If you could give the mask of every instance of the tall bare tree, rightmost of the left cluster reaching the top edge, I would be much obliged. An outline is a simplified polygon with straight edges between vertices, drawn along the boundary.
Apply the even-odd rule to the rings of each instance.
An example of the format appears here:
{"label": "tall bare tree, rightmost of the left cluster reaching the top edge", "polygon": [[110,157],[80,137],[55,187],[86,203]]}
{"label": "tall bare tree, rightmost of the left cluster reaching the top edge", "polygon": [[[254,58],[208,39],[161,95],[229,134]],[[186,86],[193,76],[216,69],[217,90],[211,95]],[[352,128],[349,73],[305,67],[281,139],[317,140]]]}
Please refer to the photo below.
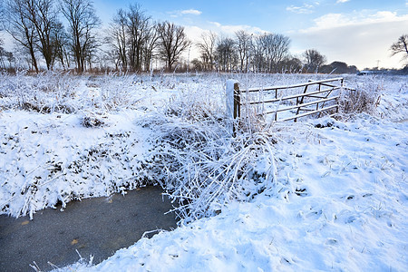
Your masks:
{"label": "tall bare tree, rightmost of the left cluster reaching the top edge", "polygon": [[83,73],[98,46],[95,28],[100,24],[90,0],[61,0],[61,11],[69,24],[70,41],[77,72]]}

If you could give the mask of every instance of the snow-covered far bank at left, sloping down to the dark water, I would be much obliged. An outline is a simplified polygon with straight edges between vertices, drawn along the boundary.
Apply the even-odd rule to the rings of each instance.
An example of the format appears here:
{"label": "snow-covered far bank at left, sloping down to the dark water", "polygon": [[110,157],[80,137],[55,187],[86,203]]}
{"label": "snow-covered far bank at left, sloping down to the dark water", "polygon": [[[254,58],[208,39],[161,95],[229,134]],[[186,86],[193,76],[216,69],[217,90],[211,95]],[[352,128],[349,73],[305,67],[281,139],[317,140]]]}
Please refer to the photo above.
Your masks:
{"label": "snow-covered far bank at left, sloping down to the dark water", "polygon": [[109,127],[85,128],[76,115],[3,112],[1,212],[33,218],[58,202],[65,207],[72,199],[146,185],[142,154],[149,131],[132,124],[132,114],[106,115]]}

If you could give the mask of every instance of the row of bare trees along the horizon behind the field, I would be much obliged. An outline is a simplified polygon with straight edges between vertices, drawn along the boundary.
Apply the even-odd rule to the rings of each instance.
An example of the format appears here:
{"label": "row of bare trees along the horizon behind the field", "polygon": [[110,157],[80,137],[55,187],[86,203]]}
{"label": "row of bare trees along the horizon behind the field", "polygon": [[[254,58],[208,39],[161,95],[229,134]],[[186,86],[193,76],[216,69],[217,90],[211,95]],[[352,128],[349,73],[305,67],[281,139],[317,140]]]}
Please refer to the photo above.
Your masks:
{"label": "row of bare trees along the horizon behind the field", "polygon": [[[2,29],[15,39],[14,52],[7,52],[0,37],[2,69],[25,67],[38,73],[44,63],[47,70],[76,73],[153,69],[357,73],[355,66],[346,63],[326,64],[325,56],[316,49],[299,57],[292,55],[290,38],[283,34],[240,30],[227,37],[205,32],[192,43],[183,26],[156,22],[138,4],[119,9],[103,32],[91,0],[5,0],[0,3],[0,13]],[[199,58],[189,59],[192,49],[199,52]]]}

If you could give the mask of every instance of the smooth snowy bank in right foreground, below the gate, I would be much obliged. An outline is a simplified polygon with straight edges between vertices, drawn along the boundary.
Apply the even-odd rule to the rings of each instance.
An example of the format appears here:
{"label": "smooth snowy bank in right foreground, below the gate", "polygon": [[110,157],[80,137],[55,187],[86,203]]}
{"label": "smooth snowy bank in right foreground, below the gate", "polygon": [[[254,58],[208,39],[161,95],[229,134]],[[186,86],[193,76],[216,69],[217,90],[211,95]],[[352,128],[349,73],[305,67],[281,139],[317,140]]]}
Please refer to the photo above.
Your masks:
{"label": "smooth snowy bank in right foreground, below the gate", "polygon": [[253,201],[62,271],[404,271],[407,129],[366,115],[278,126],[277,182]]}

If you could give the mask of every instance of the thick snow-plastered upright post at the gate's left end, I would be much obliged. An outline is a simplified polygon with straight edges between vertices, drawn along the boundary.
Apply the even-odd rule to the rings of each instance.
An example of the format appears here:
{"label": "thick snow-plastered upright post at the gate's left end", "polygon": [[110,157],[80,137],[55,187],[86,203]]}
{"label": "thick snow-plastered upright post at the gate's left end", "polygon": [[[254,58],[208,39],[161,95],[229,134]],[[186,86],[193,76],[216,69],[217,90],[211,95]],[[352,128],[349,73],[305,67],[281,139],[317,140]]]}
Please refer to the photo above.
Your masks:
{"label": "thick snow-plastered upright post at the gate's left end", "polygon": [[235,137],[237,119],[241,117],[241,98],[239,93],[239,83],[237,81],[227,81],[226,96],[227,117],[228,119],[232,119],[232,134]]}

